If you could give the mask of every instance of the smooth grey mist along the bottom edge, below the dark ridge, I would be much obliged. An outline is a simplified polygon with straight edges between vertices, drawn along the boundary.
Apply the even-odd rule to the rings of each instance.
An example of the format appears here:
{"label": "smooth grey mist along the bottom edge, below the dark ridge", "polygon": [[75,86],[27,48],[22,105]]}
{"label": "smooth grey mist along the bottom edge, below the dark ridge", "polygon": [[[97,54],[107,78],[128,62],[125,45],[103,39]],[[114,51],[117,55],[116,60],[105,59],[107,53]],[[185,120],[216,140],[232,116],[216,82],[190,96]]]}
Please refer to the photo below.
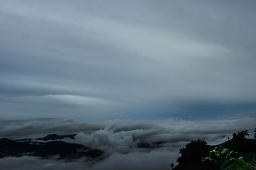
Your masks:
{"label": "smooth grey mist along the bottom edge, below the dark ridge", "polygon": [[[129,153],[127,155],[114,154],[108,159],[102,160],[95,165],[90,165],[83,160],[77,162],[60,162],[56,160],[42,160],[36,157],[20,158],[3,158],[0,159],[0,169],[63,169],[63,170],[80,170],[80,169],[170,169],[169,160],[176,157],[172,152],[150,152],[150,153]],[[129,161],[128,161],[129,160]],[[152,162],[154,160],[154,162]]]}

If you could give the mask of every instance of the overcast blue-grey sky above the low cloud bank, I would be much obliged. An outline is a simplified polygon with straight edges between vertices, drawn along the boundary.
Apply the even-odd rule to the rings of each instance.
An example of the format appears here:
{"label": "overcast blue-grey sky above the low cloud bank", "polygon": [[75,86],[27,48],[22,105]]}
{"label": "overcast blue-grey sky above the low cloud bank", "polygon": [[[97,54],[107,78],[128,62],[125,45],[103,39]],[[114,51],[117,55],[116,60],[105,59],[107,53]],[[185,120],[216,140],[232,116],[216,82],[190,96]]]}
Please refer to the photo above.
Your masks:
{"label": "overcast blue-grey sky above the low cloud bank", "polygon": [[0,118],[256,111],[256,1],[0,2]]}

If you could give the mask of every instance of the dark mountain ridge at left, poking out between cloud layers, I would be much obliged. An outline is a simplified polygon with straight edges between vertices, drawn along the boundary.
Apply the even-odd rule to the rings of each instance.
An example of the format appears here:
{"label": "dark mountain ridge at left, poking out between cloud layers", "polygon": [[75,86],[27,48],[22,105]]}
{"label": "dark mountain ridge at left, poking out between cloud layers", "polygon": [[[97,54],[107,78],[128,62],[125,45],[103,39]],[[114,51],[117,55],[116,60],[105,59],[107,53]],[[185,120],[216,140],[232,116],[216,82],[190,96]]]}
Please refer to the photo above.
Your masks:
{"label": "dark mountain ridge at left, poking out between cloud layers", "polygon": [[78,159],[87,157],[90,160],[102,156],[104,152],[97,149],[88,148],[75,143],[63,141],[41,142],[19,142],[8,138],[0,139],[0,158],[1,157],[21,157],[24,155],[42,157],[47,159],[54,155],[60,155],[59,159]]}

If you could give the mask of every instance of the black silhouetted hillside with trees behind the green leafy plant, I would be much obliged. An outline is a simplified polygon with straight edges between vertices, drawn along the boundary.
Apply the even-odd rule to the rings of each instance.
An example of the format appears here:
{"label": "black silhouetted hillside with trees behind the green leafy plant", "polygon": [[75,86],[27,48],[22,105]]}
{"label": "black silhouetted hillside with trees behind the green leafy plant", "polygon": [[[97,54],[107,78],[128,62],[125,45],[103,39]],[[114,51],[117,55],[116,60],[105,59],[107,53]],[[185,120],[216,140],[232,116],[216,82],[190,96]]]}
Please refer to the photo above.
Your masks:
{"label": "black silhouetted hillside with trees behind the green leafy plant", "polygon": [[229,148],[241,155],[248,155],[248,153],[256,153],[256,140],[246,139],[244,136],[234,136],[234,138],[221,143],[220,145],[210,146],[204,140],[198,139],[191,141],[185,148],[180,149],[181,156],[177,159],[179,164],[173,170],[186,170],[186,169],[220,169],[216,164],[209,162],[202,162],[202,157],[207,157],[209,152],[216,146],[222,148]]}

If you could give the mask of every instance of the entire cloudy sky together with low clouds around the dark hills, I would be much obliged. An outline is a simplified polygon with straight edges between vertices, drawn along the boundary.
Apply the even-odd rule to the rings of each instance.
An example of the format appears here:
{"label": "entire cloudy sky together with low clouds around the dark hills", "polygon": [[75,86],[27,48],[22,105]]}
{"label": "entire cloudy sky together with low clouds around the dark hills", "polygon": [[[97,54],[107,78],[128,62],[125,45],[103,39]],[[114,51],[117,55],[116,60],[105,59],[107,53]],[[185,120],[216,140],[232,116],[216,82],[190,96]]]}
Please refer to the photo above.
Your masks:
{"label": "entire cloudy sky together with low clouds around the dark hills", "polygon": [[1,167],[167,170],[192,139],[251,137],[255,6],[1,0],[0,138],[77,134],[64,141],[106,153],[97,164],[24,156]]}

